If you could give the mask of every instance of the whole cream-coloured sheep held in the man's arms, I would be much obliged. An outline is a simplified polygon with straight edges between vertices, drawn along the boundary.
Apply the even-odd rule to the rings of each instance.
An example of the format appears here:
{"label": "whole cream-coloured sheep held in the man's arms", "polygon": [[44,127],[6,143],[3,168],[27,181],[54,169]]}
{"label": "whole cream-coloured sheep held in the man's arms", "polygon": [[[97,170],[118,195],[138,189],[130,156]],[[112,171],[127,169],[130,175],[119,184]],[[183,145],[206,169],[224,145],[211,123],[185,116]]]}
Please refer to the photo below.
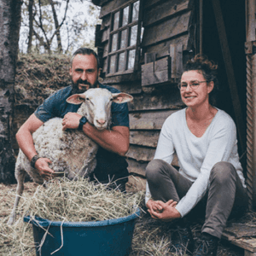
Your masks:
{"label": "whole cream-coloured sheep held in the man's arms", "polygon": [[[132,96],[125,93],[111,93],[107,89],[90,89],[83,94],[75,94],[67,98],[67,102],[81,104],[77,113],[85,116],[88,122],[98,130],[108,129],[111,124],[112,102],[130,102]],[[56,173],[64,172],[66,177],[89,177],[96,167],[96,152],[98,145],[83,131],[62,131],[62,119],[49,119],[32,134],[33,143],[41,157],[49,158],[52,164],[49,167]],[[17,180],[15,205],[9,217],[9,225],[15,223],[15,211],[18,207],[20,196],[24,190],[26,173],[35,183],[42,184],[44,179],[38,171],[30,165],[26,155],[20,150],[16,164],[15,177]]]}

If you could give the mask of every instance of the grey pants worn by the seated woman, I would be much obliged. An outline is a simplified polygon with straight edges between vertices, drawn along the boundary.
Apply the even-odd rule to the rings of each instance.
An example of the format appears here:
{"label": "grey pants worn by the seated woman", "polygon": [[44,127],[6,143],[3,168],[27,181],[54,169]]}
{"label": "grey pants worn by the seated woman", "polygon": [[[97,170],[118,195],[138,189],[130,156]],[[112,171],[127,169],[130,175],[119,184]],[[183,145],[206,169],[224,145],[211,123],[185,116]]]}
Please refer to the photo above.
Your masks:
{"label": "grey pants worn by the seated woman", "polygon": [[[152,198],[160,201],[179,201],[193,184],[164,160],[152,160],[146,168]],[[203,212],[205,222],[201,232],[220,238],[230,215],[241,215],[247,210],[247,191],[241,184],[236,169],[228,162],[212,167],[209,188],[197,206],[189,212],[192,220]]]}

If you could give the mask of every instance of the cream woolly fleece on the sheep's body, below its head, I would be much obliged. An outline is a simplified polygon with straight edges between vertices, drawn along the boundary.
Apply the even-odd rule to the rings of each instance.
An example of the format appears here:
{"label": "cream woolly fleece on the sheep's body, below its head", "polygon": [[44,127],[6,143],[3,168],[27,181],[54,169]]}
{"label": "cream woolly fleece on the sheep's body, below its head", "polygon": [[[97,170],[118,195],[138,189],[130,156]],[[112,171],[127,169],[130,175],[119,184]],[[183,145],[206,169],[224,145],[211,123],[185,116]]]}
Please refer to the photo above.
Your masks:
{"label": "cream woolly fleece on the sheep's body, below its head", "polygon": [[[49,119],[33,133],[38,155],[51,160],[49,167],[55,172],[65,172],[69,179],[77,175],[88,177],[96,167],[98,145],[86,137],[83,131],[62,131],[61,122],[60,118]],[[44,183],[44,179],[32,168],[30,161],[20,150],[15,172],[22,172],[24,169],[34,182]]]}

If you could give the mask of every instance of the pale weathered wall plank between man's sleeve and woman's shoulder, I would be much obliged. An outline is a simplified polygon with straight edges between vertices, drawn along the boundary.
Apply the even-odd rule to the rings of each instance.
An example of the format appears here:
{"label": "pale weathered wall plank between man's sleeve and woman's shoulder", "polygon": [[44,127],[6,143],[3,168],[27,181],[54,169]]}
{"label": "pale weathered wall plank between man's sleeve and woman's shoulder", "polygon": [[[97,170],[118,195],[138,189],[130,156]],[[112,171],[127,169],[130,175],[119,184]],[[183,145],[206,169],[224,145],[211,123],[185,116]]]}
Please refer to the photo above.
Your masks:
{"label": "pale weathered wall plank between man's sleeve and woman's shoulder", "polygon": [[131,130],[160,130],[166,118],[177,110],[129,113]]}

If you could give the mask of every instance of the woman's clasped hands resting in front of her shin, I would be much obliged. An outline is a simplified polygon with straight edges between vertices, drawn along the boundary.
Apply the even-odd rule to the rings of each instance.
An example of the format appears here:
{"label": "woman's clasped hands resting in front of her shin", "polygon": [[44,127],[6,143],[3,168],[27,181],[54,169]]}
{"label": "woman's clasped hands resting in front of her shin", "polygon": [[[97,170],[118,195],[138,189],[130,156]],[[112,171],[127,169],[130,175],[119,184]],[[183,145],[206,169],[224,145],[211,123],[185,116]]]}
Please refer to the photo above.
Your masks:
{"label": "woman's clasped hands resting in front of her shin", "polygon": [[147,203],[148,212],[154,219],[162,221],[172,221],[175,218],[181,218],[181,215],[176,210],[177,201],[169,200],[166,203],[163,201],[149,200]]}

